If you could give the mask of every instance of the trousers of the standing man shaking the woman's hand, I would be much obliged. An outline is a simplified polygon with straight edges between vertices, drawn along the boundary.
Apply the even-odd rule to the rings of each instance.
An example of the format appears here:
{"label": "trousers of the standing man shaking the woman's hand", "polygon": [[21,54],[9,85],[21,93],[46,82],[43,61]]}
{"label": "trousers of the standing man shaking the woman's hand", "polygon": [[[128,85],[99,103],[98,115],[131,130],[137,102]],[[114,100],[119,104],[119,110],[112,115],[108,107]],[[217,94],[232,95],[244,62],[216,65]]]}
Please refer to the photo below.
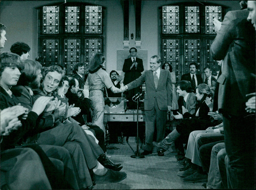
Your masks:
{"label": "trousers of the standing man shaking the woman's hand", "polygon": [[[167,119],[167,110],[159,110],[157,101],[155,99],[154,107],[152,110],[145,110],[145,125],[146,125],[146,150],[152,151],[153,137],[156,124],[156,142],[164,139],[165,127]],[[158,150],[157,150],[158,151]]]}

